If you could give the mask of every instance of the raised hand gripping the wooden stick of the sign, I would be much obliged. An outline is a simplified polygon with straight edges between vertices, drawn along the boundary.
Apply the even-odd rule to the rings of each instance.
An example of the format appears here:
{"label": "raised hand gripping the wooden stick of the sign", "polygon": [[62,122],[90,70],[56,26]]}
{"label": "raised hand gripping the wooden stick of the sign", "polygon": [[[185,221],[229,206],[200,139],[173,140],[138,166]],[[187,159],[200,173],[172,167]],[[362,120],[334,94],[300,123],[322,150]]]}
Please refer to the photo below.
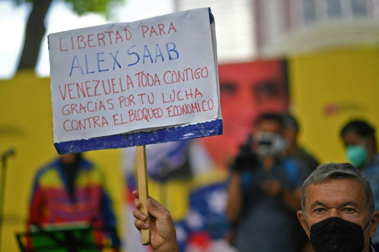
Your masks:
{"label": "raised hand gripping the wooden stick of the sign", "polygon": [[149,224],[147,224],[147,216],[141,211],[141,202],[139,200],[138,190],[133,191],[133,195],[137,198],[133,204],[135,210],[133,216],[136,219],[134,226],[138,229],[150,228],[150,245],[154,252],[160,251],[178,251],[179,248],[176,242],[176,230],[173,218],[170,212],[159,204],[158,201],[149,197],[146,201],[147,211],[150,214]]}

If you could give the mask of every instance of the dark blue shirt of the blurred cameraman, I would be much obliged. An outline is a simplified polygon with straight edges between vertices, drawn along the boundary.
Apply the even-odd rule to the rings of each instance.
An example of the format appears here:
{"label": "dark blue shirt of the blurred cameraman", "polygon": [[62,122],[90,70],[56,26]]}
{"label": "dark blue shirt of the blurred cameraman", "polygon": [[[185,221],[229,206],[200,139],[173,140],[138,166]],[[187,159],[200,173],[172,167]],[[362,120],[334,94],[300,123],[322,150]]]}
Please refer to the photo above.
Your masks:
{"label": "dark blue shirt of the blurred cameraman", "polygon": [[[262,163],[240,172],[244,207],[236,224],[236,246],[239,252],[294,252],[299,221],[296,214],[287,209],[279,197],[272,197],[262,189],[267,178],[279,181],[290,191],[301,188],[308,171],[290,159],[277,159],[266,171]],[[288,165],[295,166],[288,169]]]}

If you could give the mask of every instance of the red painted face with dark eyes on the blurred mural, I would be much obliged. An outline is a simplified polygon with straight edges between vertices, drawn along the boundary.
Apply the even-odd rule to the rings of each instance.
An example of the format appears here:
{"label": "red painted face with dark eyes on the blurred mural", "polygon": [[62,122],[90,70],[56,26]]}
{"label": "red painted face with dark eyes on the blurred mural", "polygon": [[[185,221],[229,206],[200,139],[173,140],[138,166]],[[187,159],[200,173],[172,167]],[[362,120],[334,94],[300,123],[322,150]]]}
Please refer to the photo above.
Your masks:
{"label": "red painted face with dark eyes on the blurred mural", "polygon": [[223,135],[202,140],[216,164],[225,166],[254,131],[257,117],[287,110],[288,92],[283,61],[226,64],[218,70]]}

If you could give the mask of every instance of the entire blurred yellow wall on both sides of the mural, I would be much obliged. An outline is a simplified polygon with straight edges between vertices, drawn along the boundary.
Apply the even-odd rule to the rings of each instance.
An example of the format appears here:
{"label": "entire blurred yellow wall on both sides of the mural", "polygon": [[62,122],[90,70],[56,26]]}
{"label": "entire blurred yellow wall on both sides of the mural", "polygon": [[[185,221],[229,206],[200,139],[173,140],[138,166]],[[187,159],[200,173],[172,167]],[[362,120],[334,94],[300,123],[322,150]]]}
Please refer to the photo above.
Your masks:
{"label": "entire blurred yellow wall on both sides of the mural", "polygon": [[[288,62],[291,109],[302,127],[300,142],[322,163],[346,161],[339,131],[347,120],[365,118],[379,130],[379,48],[334,49]],[[0,153],[10,147],[16,155],[8,162],[1,251],[17,251],[14,234],[24,230],[35,171],[57,155],[49,79],[36,78],[32,71],[0,81]],[[105,168],[122,224],[120,150],[86,154]]]}

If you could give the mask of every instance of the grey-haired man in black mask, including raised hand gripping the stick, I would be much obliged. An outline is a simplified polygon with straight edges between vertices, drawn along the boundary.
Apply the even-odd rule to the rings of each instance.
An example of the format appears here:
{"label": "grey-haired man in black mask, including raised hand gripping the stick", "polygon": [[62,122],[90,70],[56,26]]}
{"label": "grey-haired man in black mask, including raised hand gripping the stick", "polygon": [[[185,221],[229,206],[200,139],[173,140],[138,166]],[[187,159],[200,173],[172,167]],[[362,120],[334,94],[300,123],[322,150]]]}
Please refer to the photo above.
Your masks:
{"label": "grey-haired man in black mask, including raised hand gripping the stick", "polygon": [[[138,197],[138,192],[133,192]],[[298,218],[316,252],[375,252],[369,245],[379,212],[367,179],[351,164],[320,165],[302,187],[302,211]],[[149,228],[147,217],[134,200],[137,229]],[[167,209],[149,199],[151,247],[154,252],[179,251],[174,223]],[[254,251],[254,248],[251,248]]]}

